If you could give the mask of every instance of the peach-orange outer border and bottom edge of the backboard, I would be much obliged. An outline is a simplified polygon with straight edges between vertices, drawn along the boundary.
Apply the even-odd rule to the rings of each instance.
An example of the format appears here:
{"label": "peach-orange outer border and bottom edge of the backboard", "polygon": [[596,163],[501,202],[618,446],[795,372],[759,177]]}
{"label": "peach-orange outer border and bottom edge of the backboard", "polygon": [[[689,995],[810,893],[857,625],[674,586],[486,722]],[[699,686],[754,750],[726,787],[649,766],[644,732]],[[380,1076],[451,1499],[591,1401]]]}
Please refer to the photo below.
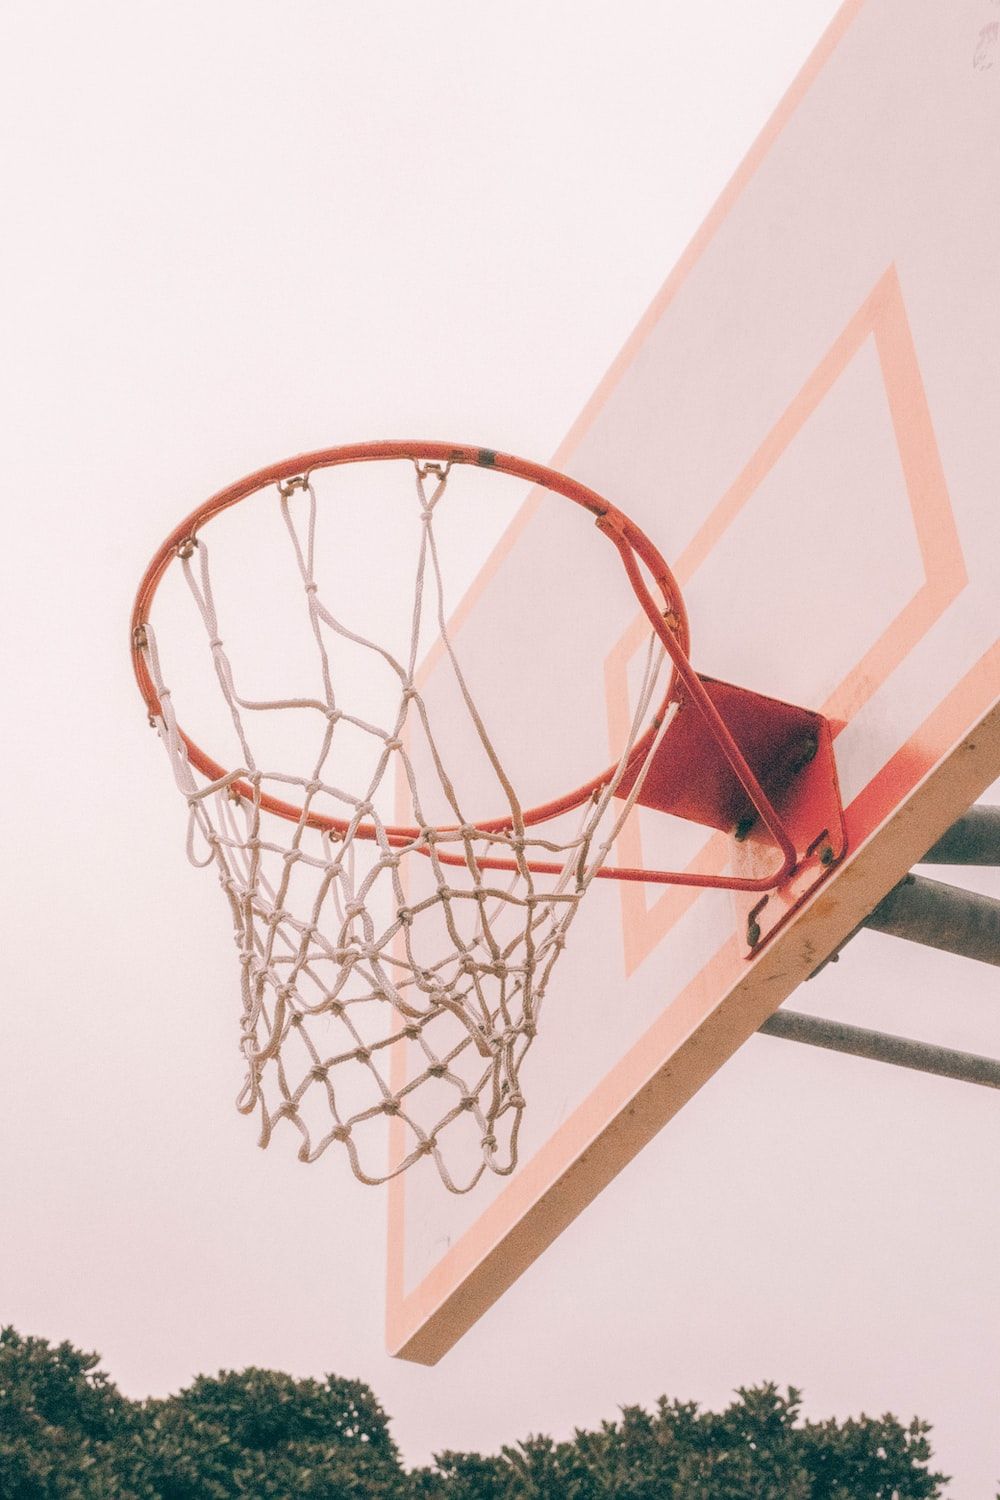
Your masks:
{"label": "peach-orange outer border and bottom edge of the backboard", "polygon": [[[867,0],[846,0],[747,158],[717,200],[660,294],[609,369],[553,458],[567,466],[582,436],[631,364],[649,328],[697,262]],[[885,362],[885,351],[880,350]],[[889,348],[892,360],[892,348]],[[885,363],[883,363],[885,369]],[[904,376],[906,378],[906,376]],[[919,376],[918,376],[919,380]],[[906,435],[898,441],[906,446]],[[910,486],[907,474],[907,484]],[[915,489],[910,486],[910,495]],[[529,496],[466,596],[468,615],[538,506]],[[933,568],[925,570],[928,580]],[[688,564],[691,566],[691,564]],[[927,588],[928,585],[925,585]],[[931,588],[940,588],[940,582]],[[928,609],[924,590],[907,606]],[[904,612],[906,614],[906,612]],[[897,622],[898,628],[898,622]],[[912,621],[907,628],[912,628]],[[927,628],[927,626],[924,627]],[[948,758],[946,764],[942,764]],[[480,1220],[409,1293],[405,1286],[405,1178],[390,1182],[387,1344],[391,1353],[435,1364],[646,1144],[673,1113],[771,1016],[795,986],[871,910],[970,802],[1000,765],[1000,642],[996,642],[847,808],[852,854],[835,886],[808,904],[753,962],[736,940],[664,1010],[547,1144],[525,1164]],[[874,848],[864,830],[900,807],[889,837]],[[721,1002],[724,974],[733,982]],[[714,1008],[712,1008],[714,1005]]]}

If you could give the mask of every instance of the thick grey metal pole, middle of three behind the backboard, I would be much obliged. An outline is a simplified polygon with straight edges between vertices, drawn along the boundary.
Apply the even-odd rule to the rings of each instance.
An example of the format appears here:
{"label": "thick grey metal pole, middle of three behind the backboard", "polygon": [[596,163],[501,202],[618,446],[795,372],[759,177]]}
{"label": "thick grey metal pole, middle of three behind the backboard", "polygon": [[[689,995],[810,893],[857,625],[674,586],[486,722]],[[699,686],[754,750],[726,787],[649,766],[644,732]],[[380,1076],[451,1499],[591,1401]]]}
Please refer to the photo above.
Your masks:
{"label": "thick grey metal pole, middle of three behind the backboard", "polygon": [[907,874],[862,927],[1000,964],[1000,902],[922,874]]}

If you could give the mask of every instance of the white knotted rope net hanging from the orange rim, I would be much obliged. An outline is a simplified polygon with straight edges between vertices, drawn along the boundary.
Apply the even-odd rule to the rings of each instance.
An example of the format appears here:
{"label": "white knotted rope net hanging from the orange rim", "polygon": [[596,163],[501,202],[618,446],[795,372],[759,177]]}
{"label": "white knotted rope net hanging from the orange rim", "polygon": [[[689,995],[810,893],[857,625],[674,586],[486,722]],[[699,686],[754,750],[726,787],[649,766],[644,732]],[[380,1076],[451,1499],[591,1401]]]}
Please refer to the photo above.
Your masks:
{"label": "white knotted rope net hanging from the orange rim", "polygon": [[[561,819],[547,837],[526,826],[448,634],[433,525],[448,468],[415,471],[420,542],[409,645],[399,656],[352,630],[321,597],[310,477],[277,486],[315,644],[310,698],[261,700],[240,690],[205,540],[178,549],[241,756],[225,777],[207,780],[190,762],[151,626],[142,650],[160,702],[156,726],[189,807],[189,858],[214,866],[232,916],[246,1062],[238,1108],[259,1116],[262,1146],[288,1122],[303,1161],[336,1142],[354,1173],[378,1184],[430,1158],[445,1186],[465,1192],[486,1170],[507,1174],[517,1164],[525,1056],[568,927],[642,786],[640,774],[630,795],[616,798],[664,690],[664,658],[651,636],[628,741],[573,826]],[[502,800],[502,831],[469,822],[445,770],[444,741],[454,724],[432,726],[418,687],[424,615]],[[394,706],[384,723],[352,712],[342,698],[334,648],[345,642],[391,674]],[[252,748],[255,722],[286,711],[307,714],[315,726],[316,747],[301,774],[259,764]],[[360,792],[340,784],[337,746],[348,734],[372,748]],[[406,836],[379,813],[385,783],[406,790]],[[292,801],[298,816],[274,816],[268,796]],[[447,819],[432,822],[432,804],[447,806]],[[345,826],[318,826],[330,819]],[[495,860],[508,868],[492,868]],[[535,873],[531,864],[540,861],[556,873]]]}

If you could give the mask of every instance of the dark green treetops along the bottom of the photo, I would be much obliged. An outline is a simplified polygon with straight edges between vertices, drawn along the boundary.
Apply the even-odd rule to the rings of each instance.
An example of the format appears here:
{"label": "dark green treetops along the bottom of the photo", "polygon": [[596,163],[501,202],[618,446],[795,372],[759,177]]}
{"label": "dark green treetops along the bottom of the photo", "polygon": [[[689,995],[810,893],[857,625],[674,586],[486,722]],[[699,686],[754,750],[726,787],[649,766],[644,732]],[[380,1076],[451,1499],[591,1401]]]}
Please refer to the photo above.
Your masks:
{"label": "dark green treetops along the bottom of the photo", "polygon": [[0,1334],[0,1500],[936,1500],[928,1425],[807,1422],[795,1389],[667,1401],[406,1470],[367,1386],[273,1370],[127,1401],[97,1356]]}

